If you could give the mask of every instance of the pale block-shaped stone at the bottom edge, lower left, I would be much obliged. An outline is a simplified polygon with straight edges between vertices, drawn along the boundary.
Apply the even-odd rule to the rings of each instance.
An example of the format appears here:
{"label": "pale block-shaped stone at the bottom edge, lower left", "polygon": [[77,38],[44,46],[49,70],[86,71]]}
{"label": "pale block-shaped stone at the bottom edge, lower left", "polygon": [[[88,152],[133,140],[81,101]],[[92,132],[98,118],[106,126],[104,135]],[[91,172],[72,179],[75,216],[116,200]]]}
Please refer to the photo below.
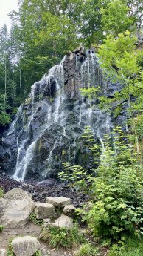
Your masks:
{"label": "pale block-shaped stone at the bottom edge, lower left", "polygon": [[13,252],[16,256],[32,256],[40,248],[35,237],[17,237],[12,240]]}

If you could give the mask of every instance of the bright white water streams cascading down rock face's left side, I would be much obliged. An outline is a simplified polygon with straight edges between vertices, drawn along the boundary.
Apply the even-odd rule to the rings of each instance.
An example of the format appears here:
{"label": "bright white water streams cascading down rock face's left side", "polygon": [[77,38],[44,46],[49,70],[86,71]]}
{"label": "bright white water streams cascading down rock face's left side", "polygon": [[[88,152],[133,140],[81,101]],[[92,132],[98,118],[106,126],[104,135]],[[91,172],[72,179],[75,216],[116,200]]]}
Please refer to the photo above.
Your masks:
{"label": "bright white water streams cascading down rock face's left side", "polygon": [[[63,58],[64,60],[64,58]],[[43,76],[43,79],[38,82],[39,85],[39,91],[41,90],[41,85],[44,84],[44,82],[46,81],[46,83],[48,84],[51,77],[55,77],[55,82],[56,82],[56,90],[57,93],[59,93],[60,91],[60,86],[62,86],[63,83],[63,61],[60,62],[60,65],[56,65],[55,67],[52,67],[49,70],[49,73],[47,76]],[[32,114],[29,118],[29,122],[27,124],[27,136],[28,136],[28,131],[30,128],[30,124],[32,122],[33,116],[35,114],[34,109],[35,109],[35,91],[37,89],[37,83],[35,83],[34,85],[32,85],[32,91],[31,91],[31,98],[32,98]],[[50,93],[51,94],[51,93]],[[40,132],[38,134],[37,139],[32,142],[29,147],[27,148],[27,151],[25,152],[25,156],[23,159],[21,159],[21,153],[25,147],[25,143],[27,142],[28,138],[24,141],[22,141],[22,143],[18,145],[18,154],[17,154],[17,161],[16,161],[16,168],[15,168],[15,173],[13,174],[13,178],[15,180],[24,180],[26,174],[27,174],[27,167],[30,163],[30,161],[32,160],[32,157],[34,155],[34,150],[35,150],[35,145],[36,142],[38,141],[39,137],[41,136],[41,134],[43,134],[43,132],[49,128],[49,126],[52,123],[52,116],[54,116],[54,122],[58,122],[58,116],[59,116],[59,108],[60,108],[60,95],[57,96],[57,98],[55,99],[55,105],[54,105],[55,111],[54,114],[51,113],[52,108],[51,106],[47,105],[47,114],[46,114],[46,122],[45,125],[43,125],[40,129]],[[18,140],[17,140],[18,141]],[[54,149],[55,147],[53,147]],[[52,151],[53,151],[52,149]],[[51,157],[52,157],[52,151],[50,151],[49,157],[48,157],[48,164],[51,162]]]}

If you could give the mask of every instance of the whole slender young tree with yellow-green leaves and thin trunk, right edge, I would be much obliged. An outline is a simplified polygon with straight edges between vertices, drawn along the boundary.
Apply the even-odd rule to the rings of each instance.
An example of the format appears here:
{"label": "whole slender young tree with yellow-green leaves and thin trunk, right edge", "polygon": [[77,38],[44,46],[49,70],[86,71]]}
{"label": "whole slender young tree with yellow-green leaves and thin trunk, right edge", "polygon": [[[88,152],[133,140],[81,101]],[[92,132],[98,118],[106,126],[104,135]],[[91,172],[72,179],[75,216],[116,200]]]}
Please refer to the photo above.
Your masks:
{"label": "whole slender young tree with yellow-green leaves and thin trunk, right edge", "polygon": [[119,115],[128,102],[127,116],[130,116],[132,123],[132,141],[134,140],[136,145],[137,154],[141,155],[140,128],[136,125],[134,116],[140,114],[143,109],[143,73],[141,50],[136,50],[136,40],[136,36],[128,31],[120,33],[116,38],[107,36],[105,44],[100,46],[99,56],[102,68],[109,73],[110,79],[118,80],[122,84],[122,90],[114,93],[111,99],[111,105],[116,105],[114,117]]}

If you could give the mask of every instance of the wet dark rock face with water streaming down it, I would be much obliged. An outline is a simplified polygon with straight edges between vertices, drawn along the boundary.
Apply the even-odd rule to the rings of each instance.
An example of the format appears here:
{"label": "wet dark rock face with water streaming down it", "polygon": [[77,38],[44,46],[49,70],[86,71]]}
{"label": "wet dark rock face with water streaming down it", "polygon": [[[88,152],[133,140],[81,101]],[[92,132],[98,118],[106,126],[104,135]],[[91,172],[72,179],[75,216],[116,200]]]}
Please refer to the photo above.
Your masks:
{"label": "wet dark rock face with water streaming down it", "polygon": [[32,85],[15,121],[0,139],[1,169],[16,179],[45,180],[56,177],[64,162],[91,168],[84,128],[90,126],[103,147],[102,137],[113,126],[110,114],[98,109],[96,99],[91,102],[80,95],[80,88],[91,86],[100,86],[106,96],[121,88],[105,79],[93,49],[79,47]]}

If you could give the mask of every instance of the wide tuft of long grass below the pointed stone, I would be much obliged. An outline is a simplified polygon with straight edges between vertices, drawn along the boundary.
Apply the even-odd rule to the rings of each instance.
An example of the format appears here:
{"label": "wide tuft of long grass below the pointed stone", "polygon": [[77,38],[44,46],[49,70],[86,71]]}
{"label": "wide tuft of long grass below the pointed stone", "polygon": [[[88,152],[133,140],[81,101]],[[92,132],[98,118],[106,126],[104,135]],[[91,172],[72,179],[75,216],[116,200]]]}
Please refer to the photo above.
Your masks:
{"label": "wide tuft of long grass below the pointed stone", "polygon": [[79,232],[77,225],[69,229],[47,226],[43,229],[41,240],[48,243],[52,248],[72,248],[83,243],[84,237]]}

